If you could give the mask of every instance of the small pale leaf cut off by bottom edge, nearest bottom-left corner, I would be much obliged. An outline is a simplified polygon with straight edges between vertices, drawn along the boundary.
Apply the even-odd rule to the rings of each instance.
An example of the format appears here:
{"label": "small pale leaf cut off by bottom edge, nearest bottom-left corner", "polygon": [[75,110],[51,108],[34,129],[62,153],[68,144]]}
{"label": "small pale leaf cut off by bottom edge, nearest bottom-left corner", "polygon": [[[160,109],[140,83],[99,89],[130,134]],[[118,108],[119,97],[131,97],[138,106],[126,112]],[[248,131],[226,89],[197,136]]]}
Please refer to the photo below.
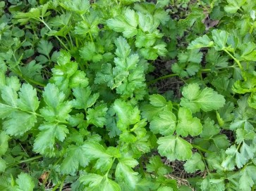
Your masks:
{"label": "small pale leaf cut off by bottom edge, nearest bottom-left corner", "polygon": [[32,191],[35,187],[35,183],[28,173],[20,173],[16,183],[18,184],[18,187],[16,187],[17,191]]}

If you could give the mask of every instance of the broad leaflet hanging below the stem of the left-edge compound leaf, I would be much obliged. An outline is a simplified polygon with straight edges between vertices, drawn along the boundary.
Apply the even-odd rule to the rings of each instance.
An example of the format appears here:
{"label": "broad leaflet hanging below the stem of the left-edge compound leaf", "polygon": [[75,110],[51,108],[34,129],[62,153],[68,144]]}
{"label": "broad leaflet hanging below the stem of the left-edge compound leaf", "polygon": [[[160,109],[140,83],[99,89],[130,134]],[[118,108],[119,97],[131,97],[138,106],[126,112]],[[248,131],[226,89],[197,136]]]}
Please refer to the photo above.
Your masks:
{"label": "broad leaflet hanging below the stem of the left-edge compound leaf", "polygon": [[37,117],[34,114],[26,112],[12,112],[6,121],[3,122],[3,128],[8,135],[23,136],[37,122]]}

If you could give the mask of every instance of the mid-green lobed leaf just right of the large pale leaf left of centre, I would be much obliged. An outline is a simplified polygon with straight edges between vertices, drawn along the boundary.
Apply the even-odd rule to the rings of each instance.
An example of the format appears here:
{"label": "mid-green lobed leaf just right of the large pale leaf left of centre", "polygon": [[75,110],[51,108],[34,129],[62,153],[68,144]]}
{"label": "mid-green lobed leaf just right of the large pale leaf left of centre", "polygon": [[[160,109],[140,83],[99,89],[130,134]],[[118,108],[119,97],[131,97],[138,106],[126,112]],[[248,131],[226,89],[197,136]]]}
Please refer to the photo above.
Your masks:
{"label": "mid-green lobed leaf just right of the large pale leaf left of centre", "polygon": [[75,99],[72,100],[72,105],[76,109],[86,110],[88,107],[92,107],[96,100],[99,98],[99,93],[92,94],[90,87],[86,88],[73,88],[73,95]]}

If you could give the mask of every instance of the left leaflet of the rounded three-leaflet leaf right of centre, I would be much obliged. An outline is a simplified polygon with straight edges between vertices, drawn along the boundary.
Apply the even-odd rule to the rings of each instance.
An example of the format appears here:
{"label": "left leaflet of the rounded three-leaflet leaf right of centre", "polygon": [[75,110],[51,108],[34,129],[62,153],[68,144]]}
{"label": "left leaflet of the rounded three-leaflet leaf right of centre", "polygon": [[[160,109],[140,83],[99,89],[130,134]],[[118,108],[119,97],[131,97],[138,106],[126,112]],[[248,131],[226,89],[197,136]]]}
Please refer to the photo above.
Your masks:
{"label": "left leaflet of the rounded three-leaflet leaf right of centre", "polygon": [[176,130],[176,116],[170,111],[159,113],[159,117],[154,117],[150,122],[150,130],[163,136],[170,136]]}

